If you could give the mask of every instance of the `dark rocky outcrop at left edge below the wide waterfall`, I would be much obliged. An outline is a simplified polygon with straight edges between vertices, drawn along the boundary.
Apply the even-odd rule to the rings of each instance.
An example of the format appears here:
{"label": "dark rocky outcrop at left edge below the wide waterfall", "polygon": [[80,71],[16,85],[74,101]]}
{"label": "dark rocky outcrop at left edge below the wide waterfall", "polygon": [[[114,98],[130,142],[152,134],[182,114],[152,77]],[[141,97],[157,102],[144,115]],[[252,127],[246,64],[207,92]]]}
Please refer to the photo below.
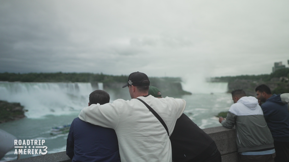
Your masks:
{"label": "dark rocky outcrop at left edge below the wide waterfall", "polygon": [[20,103],[0,101],[0,123],[25,118],[24,113],[27,111]]}

